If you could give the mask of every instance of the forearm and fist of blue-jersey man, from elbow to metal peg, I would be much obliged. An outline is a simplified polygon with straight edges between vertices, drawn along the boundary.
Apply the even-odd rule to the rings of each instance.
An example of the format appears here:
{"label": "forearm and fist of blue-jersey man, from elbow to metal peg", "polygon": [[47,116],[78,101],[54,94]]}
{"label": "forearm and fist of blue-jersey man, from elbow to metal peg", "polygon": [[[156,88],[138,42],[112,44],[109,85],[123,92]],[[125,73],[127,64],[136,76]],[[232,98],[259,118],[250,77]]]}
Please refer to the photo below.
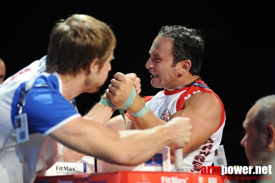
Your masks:
{"label": "forearm and fist of blue-jersey man, from elbow to metal peg", "polygon": [[[184,147],[190,140],[191,125],[188,118],[176,117],[171,122],[147,130],[120,131],[121,145],[127,152],[132,153],[135,161],[150,158],[158,150],[169,145],[170,147]],[[140,133],[140,134],[139,134]],[[124,138],[125,136],[125,138]],[[138,144],[138,145],[130,145]],[[135,163],[135,162],[132,162]]]}

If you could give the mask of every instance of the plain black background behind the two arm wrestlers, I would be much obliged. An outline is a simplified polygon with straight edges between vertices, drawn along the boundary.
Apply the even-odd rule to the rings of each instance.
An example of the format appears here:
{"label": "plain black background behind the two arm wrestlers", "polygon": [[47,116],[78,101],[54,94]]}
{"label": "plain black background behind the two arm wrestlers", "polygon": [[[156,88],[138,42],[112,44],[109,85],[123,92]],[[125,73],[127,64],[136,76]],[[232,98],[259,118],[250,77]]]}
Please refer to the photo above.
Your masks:
{"label": "plain black background behind the two arm wrestlers", "polygon": [[50,31],[57,20],[80,13],[110,25],[118,41],[115,60],[106,84],[98,93],[76,98],[79,112],[85,114],[99,101],[99,95],[118,71],[136,73],[141,78],[143,96],[160,90],[150,85],[145,63],[161,26],[177,24],[201,30],[206,58],[200,76],[225,106],[222,144],[227,163],[248,166],[240,145],[244,135],[242,122],[257,99],[275,93],[274,6],[223,3],[77,1],[1,5],[0,57],[9,77],[46,55]]}

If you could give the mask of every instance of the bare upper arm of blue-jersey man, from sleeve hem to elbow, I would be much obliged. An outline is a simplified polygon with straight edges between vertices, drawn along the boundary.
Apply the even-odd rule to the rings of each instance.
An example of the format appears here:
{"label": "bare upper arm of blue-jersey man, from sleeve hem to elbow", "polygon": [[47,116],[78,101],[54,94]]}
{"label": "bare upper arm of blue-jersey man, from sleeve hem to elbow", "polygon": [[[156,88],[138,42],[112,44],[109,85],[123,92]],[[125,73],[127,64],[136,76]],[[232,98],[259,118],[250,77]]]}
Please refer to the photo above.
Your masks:
{"label": "bare upper arm of blue-jersey man, from sleeve hem to elbow", "polygon": [[118,132],[83,118],[65,124],[51,136],[74,151],[106,161],[115,158],[112,146],[119,139]]}

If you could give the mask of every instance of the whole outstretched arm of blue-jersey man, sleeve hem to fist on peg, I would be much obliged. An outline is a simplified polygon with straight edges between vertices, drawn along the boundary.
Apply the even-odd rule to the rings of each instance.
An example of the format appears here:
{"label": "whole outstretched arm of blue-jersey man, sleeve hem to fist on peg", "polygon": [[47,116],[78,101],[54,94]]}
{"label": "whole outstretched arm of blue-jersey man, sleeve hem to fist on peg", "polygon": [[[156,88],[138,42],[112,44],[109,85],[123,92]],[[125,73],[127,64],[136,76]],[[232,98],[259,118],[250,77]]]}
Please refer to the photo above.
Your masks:
{"label": "whole outstretched arm of blue-jersey man, sleeve hem to fist on peg", "polygon": [[[107,127],[77,118],[51,136],[63,145],[110,163],[135,165],[148,160],[164,145],[183,147],[190,137],[187,118],[147,130],[112,131]],[[185,138],[179,138],[185,137]]]}

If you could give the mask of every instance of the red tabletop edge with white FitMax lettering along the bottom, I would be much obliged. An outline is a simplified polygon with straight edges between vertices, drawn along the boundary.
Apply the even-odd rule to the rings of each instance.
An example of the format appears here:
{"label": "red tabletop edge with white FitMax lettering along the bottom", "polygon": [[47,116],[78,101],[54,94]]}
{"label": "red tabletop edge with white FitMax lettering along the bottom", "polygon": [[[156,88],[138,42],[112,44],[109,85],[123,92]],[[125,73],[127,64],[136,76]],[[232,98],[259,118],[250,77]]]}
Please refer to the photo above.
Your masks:
{"label": "red tabletop edge with white FitMax lettering along the bottom", "polygon": [[[246,177],[245,175],[243,175]],[[197,174],[181,172],[117,171],[38,177],[34,183],[247,183],[240,175]]]}

